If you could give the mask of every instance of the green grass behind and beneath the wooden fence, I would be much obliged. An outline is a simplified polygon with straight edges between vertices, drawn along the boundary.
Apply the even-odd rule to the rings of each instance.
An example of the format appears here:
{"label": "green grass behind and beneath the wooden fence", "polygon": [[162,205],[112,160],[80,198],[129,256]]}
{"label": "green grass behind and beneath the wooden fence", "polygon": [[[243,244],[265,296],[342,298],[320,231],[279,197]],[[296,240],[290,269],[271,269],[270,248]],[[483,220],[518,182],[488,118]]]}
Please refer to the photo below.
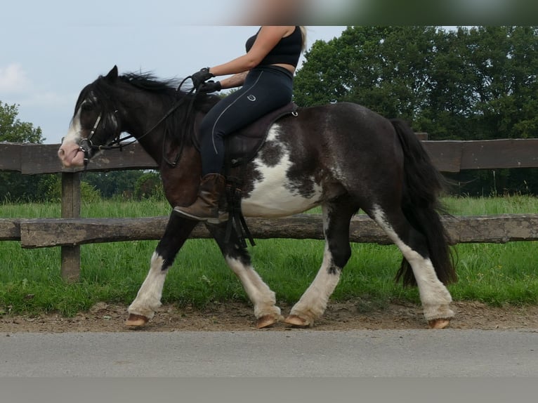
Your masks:
{"label": "green grass behind and beneath the wooden fence", "polygon": [[[538,198],[447,198],[454,215],[534,213]],[[83,216],[135,217],[169,213],[165,202],[103,201],[84,204]],[[0,218],[59,217],[58,204],[3,204]],[[250,248],[256,270],[276,291],[280,303],[294,303],[315,277],[323,242],[265,239]],[[156,241],[116,242],[81,246],[81,279],[66,284],[60,277],[60,249],[20,248],[0,242],[0,315],[58,311],[74,315],[98,301],[130,303],[142,284]],[[480,300],[490,305],[538,304],[538,242],[459,244],[459,282],[449,286],[454,300]],[[353,255],[333,300],[350,298],[383,306],[391,300],[419,302],[417,289],[393,282],[401,254],[395,246],[352,244]],[[216,244],[190,239],[166,279],[164,303],[201,308],[215,301],[247,301],[240,282],[225,265]]]}

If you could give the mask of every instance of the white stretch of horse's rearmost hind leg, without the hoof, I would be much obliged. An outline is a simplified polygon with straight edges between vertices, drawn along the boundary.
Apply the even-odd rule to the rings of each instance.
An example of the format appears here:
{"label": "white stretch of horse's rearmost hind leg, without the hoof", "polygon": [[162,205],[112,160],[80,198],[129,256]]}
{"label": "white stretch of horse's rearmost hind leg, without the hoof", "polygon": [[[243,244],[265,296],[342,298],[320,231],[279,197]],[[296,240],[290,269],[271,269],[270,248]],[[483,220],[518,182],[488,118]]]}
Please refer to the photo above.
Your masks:
{"label": "white stretch of horse's rearmost hind leg, without the hoof", "polygon": [[416,285],[419,287],[420,299],[424,307],[424,317],[431,320],[454,316],[454,312],[448,308],[448,305],[452,302],[452,296],[450,296],[445,285],[440,282],[435,274],[435,268],[430,258],[424,258],[398,237],[379,206],[374,206],[372,216],[394,244],[398,246],[398,249],[402,251],[403,256],[411,265]]}

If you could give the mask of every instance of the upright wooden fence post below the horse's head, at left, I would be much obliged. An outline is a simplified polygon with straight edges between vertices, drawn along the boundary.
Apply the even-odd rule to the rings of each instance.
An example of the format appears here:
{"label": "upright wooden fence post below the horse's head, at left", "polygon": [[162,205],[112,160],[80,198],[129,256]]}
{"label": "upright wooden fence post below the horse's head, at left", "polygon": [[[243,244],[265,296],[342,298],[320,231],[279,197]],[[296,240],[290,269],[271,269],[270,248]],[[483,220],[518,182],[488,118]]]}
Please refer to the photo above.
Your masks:
{"label": "upright wooden fence post below the horse's head, at left", "polygon": [[[62,218],[80,217],[80,173],[62,173]],[[61,275],[67,282],[80,276],[80,246],[62,246]]]}

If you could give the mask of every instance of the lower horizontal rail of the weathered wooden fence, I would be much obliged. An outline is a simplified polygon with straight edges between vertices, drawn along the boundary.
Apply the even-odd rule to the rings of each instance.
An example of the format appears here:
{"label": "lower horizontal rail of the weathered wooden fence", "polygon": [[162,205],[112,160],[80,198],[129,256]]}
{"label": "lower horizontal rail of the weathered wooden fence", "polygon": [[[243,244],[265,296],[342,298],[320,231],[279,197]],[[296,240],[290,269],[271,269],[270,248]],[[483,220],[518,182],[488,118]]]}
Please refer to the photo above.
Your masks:
{"label": "lower horizontal rail of the weathered wooden fence", "polygon": [[[102,242],[161,239],[168,216],[145,218],[39,218],[0,220],[0,241],[20,241],[23,248],[77,246]],[[320,214],[297,214],[286,218],[247,218],[257,239],[324,239]],[[454,244],[538,241],[538,214],[443,217]],[[385,232],[367,216],[350,223],[350,242],[391,244]],[[211,238],[198,225],[191,238]]]}

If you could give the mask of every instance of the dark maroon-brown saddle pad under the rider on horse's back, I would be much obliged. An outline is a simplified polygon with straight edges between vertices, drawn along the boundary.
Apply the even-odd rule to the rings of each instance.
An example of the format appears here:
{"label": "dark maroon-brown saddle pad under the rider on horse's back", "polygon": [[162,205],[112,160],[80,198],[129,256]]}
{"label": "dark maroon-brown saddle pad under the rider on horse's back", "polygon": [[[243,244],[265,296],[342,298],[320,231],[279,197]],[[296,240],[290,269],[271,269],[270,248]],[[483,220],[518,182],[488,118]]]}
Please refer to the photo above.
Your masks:
{"label": "dark maroon-brown saddle pad under the rider on horse's back", "polygon": [[[271,125],[281,117],[296,112],[297,109],[298,106],[295,103],[289,103],[227,136],[224,139],[225,164],[235,167],[247,164],[247,162],[254,159],[263,143],[265,143]],[[195,147],[199,150],[199,131],[195,131],[193,140]]]}

